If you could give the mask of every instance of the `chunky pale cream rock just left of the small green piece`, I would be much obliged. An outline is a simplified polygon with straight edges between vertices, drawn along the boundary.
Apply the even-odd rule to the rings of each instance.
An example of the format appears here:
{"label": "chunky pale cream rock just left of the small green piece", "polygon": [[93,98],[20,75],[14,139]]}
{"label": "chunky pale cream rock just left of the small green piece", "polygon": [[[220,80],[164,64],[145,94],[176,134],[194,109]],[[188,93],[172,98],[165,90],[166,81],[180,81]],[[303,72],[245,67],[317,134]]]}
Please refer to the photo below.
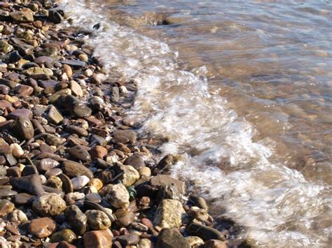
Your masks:
{"label": "chunky pale cream rock just left of the small green piece", "polygon": [[106,200],[115,208],[127,208],[129,198],[129,193],[123,184],[113,185],[106,195]]}

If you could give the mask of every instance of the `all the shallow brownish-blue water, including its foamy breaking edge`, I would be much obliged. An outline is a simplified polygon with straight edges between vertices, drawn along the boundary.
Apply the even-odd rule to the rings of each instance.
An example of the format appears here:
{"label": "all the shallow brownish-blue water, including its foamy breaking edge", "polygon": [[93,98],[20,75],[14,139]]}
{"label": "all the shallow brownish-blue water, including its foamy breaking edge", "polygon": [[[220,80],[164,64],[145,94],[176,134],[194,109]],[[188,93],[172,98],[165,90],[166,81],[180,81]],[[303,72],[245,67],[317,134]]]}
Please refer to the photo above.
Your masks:
{"label": "all the shallow brownish-blue water, including its foamy breaking edge", "polygon": [[[66,3],[66,1],[64,1]],[[328,1],[67,1],[173,174],[261,247],[331,243]]]}

